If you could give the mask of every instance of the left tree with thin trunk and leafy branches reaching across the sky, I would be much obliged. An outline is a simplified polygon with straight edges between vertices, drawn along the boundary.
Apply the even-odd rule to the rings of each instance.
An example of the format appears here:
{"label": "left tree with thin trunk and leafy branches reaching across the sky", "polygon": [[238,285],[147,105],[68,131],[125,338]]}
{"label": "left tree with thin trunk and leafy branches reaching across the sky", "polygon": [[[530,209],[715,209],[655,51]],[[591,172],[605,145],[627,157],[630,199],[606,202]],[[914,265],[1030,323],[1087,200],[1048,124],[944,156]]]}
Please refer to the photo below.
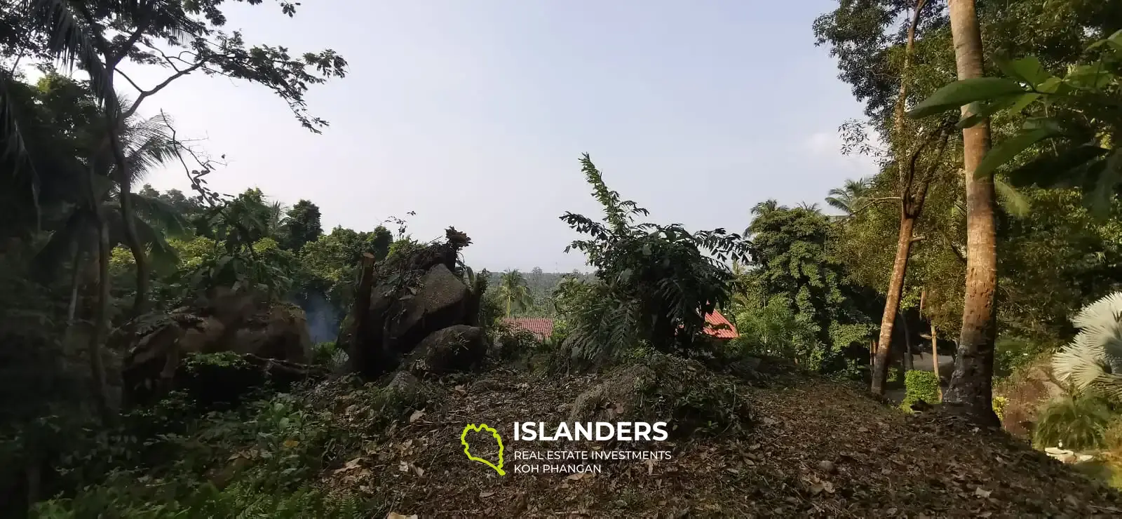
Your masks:
{"label": "left tree with thin trunk and leafy branches reaching across the sky", "polygon": [[[89,74],[91,90],[103,103],[104,134],[98,148],[107,152],[121,193],[123,239],[132,252],[137,271],[134,317],[145,311],[149,279],[146,251],[134,225],[132,175],[122,143],[125,121],[136,113],[145,99],[176,79],[201,72],[264,84],[288,103],[304,127],[320,131],[319,128],[327,122],[307,115],[304,93],[309,84],[344,75],[347,62],[333,51],[307,53],[294,58],[284,47],[246,48],[240,33],[221,30],[226,17],[219,3],[103,4],[88,0],[25,0],[19,6],[4,8],[16,9],[28,18],[27,27],[35,36],[27,40],[27,45],[33,52],[59,58],[68,66],[76,64]],[[282,9],[288,16],[295,12],[293,3],[283,2]],[[126,60],[167,67],[174,73],[156,86],[145,89],[119,70]],[[135,100],[126,103],[118,98],[114,86],[118,76],[137,90]],[[7,120],[0,127],[6,131],[4,140],[22,142],[19,125],[11,119],[10,111],[3,115]],[[19,151],[22,147],[15,148]],[[98,154],[99,161],[101,155]],[[102,218],[100,209],[95,216]]]}

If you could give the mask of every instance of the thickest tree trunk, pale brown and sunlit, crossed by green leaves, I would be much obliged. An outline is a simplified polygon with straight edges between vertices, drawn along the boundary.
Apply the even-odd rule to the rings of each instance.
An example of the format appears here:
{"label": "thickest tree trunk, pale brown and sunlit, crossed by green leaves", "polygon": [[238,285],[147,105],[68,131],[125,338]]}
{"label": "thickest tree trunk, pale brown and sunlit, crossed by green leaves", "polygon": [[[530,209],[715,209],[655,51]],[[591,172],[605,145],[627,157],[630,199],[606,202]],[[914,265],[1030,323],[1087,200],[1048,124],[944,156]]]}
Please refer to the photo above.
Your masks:
{"label": "thickest tree trunk, pale brown and sunlit, crossed by green leaves", "polygon": [[[982,34],[974,0],[950,0],[950,34],[958,79],[982,76]],[[968,107],[963,107],[963,117]],[[966,299],[955,373],[944,394],[945,408],[981,425],[1000,425],[993,412],[993,344],[996,337],[997,248],[993,179],[974,171],[990,151],[990,121],[963,130],[966,174]]]}

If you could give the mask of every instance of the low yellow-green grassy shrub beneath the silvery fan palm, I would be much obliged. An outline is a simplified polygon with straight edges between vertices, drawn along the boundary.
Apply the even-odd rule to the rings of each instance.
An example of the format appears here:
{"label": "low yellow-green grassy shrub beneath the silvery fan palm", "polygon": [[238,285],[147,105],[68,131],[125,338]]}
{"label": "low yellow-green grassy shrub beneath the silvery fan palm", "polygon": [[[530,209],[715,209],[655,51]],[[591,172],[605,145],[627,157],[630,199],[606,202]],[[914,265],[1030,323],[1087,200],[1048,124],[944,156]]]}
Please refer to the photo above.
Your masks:
{"label": "low yellow-green grassy shrub beneath the silvery fan palm", "polygon": [[1097,448],[1113,416],[1109,403],[1095,395],[1056,400],[1039,411],[1032,443],[1038,448]]}

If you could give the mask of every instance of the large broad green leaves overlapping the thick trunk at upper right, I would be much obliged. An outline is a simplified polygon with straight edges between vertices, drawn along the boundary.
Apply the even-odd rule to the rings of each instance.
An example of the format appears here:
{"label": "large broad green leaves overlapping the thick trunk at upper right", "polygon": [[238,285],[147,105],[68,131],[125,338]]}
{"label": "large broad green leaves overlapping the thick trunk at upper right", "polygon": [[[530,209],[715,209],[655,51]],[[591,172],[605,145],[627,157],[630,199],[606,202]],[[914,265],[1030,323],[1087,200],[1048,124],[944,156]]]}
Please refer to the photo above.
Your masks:
{"label": "large broad green leaves overlapping the thick trunk at upper right", "polygon": [[994,146],[975,171],[977,176],[1033,149],[1036,157],[1009,170],[1013,186],[1078,186],[1097,215],[1122,182],[1122,30],[1088,48],[1097,58],[1070,66],[1063,78],[1049,73],[1034,56],[995,60],[1005,78],[976,78],[950,83],[910,111],[928,117],[969,106],[959,128],[969,128],[999,112],[1024,113],[1020,130]]}

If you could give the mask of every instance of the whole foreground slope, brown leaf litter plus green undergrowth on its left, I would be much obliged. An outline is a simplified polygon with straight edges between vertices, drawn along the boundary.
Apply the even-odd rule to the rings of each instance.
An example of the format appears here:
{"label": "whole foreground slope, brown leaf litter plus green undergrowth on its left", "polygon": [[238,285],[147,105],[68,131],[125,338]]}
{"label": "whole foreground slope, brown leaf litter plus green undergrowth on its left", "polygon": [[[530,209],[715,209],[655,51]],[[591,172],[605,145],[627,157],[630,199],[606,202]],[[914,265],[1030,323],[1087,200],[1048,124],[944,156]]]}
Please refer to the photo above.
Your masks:
{"label": "whole foreground slope, brown leaf litter plus green undergrowth on its left", "polygon": [[[747,376],[752,381],[748,383],[714,374],[693,362],[656,356],[607,375],[546,376],[523,367],[493,365],[479,373],[421,383],[399,374],[388,389],[356,386],[341,379],[291,397],[251,403],[247,408],[256,410],[256,415],[251,413],[254,418],[246,425],[206,422],[190,436],[190,448],[181,445],[184,453],[137,474],[134,481],[150,492],[164,489],[168,482],[162,477],[172,477],[182,470],[184,462],[176,459],[190,461],[205,453],[212,462],[187,465],[205,467],[202,473],[208,481],[223,489],[215,495],[246,492],[247,488],[268,492],[269,486],[258,485],[275,479],[306,479],[305,490],[331,495],[324,502],[353,507],[343,512],[332,508],[341,504],[318,502],[314,507],[325,507],[316,508],[318,517],[1122,513],[1118,493],[1004,432],[967,427],[935,415],[905,417],[846,385],[797,375],[766,363],[760,370]],[[632,376],[635,373],[653,379],[640,383]],[[644,394],[657,398],[641,399],[637,404],[628,402],[634,388],[643,384],[653,388]],[[579,398],[590,389],[604,398]],[[707,409],[712,404],[721,407]],[[690,412],[683,415],[683,410]],[[672,441],[659,445],[594,446],[587,441],[546,444],[511,438],[514,421],[553,424],[574,417],[623,420],[663,413],[684,417],[678,421],[683,425],[697,412],[711,413],[709,425],[718,427],[707,429],[702,420],[702,427],[686,437],[672,437]],[[506,440],[505,475],[465,456],[460,435],[468,424],[489,424],[499,429]],[[263,430],[263,425],[268,427]],[[255,434],[239,435],[239,427],[258,428],[250,429]],[[480,448],[479,438],[472,441]],[[512,459],[514,450],[599,448],[671,450],[672,458],[604,462],[599,474],[515,473],[515,465],[527,462]],[[176,484],[185,484],[191,477],[178,474]],[[196,486],[191,499],[218,507],[214,502],[221,499],[197,490],[205,488],[205,483]],[[279,489],[288,490],[267,498],[239,494],[230,499],[242,503],[242,510],[258,512],[258,517],[279,516],[279,510],[287,510],[286,517],[302,517],[311,510],[307,507],[313,504],[296,499],[301,494],[294,493],[293,486]],[[112,494],[110,490],[96,492]],[[171,507],[193,513],[206,509],[186,504],[194,502],[187,499],[167,504],[157,498],[166,494],[132,492],[145,500],[144,507]],[[247,500],[256,508],[245,506]]]}

